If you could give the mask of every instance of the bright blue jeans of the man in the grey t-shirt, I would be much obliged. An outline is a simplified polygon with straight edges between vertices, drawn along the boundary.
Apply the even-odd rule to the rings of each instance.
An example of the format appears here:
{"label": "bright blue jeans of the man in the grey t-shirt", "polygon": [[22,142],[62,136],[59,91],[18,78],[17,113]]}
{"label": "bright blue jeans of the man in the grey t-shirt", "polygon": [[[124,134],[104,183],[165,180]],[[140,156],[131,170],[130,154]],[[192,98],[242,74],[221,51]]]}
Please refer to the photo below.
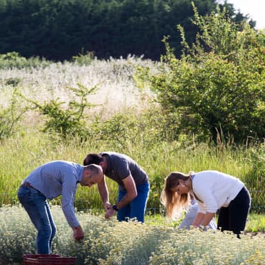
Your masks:
{"label": "bright blue jeans of the man in the grey t-shirt", "polygon": [[[150,184],[146,183],[137,186],[137,197],[129,204],[118,210],[117,219],[126,221],[126,219],[136,218],[139,222],[144,222],[144,213],[146,212],[146,203],[149,195]],[[118,202],[126,195],[126,190],[119,187]]]}

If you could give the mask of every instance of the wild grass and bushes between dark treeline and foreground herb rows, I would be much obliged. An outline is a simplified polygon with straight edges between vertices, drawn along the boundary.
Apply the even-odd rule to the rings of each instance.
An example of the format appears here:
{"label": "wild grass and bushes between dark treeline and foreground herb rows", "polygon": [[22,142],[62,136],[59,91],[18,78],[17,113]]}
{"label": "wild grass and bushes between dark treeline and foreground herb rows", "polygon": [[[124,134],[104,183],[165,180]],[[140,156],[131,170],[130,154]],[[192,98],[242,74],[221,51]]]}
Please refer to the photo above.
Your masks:
{"label": "wild grass and bushes between dark treeline and foreground herb rows", "polygon": [[[166,40],[159,63],[132,56],[81,55],[53,63],[1,55],[1,204],[17,202],[20,181],[43,162],[81,163],[87,153],[115,150],[148,172],[151,210],[160,209],[170,171],[205,169],[242,179],[252,209],[262,209],[264,34],[247,23],[239,32],[220,10],[202,17],[193,8],[201,30],[188,46],[179,27],[181,59]],[[109,185],[115,194],[117,187]],[[101,208],[93,189],[81,190],[76,203],[79,209]]]}

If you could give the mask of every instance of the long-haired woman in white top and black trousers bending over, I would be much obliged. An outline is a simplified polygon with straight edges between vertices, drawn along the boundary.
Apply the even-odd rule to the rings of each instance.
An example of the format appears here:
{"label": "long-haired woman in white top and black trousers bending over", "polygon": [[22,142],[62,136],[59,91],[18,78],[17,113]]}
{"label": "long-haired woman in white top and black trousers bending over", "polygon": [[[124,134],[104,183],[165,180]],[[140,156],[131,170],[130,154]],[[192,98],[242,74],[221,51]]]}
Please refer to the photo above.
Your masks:
{"label": "long-haired woman in white top and black trousers bending over", "polygon": [[193,226],[208,226],[219,210],[217,228],[239,234],[246,226],[251,196],[243,182],[225,173],[206,170],[188,175],[172,172],[166,177],[161,203],[170,217],[188,208],[189,195],[197,200],[199,211]]}

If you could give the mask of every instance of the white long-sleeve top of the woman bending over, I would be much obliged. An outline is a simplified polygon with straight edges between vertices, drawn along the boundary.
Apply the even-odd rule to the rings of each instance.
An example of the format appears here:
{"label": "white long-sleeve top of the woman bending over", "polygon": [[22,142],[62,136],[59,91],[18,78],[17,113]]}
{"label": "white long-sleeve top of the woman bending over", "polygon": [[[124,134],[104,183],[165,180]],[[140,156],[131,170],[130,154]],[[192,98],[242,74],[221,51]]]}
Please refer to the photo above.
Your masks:
{"label": "white long-sleeve top of the woman bending over", "polygon": [[216,170],[195,173],[192,182],[199,213],[216,213],[219,208],[228,207],[244,187],[236,177]]}

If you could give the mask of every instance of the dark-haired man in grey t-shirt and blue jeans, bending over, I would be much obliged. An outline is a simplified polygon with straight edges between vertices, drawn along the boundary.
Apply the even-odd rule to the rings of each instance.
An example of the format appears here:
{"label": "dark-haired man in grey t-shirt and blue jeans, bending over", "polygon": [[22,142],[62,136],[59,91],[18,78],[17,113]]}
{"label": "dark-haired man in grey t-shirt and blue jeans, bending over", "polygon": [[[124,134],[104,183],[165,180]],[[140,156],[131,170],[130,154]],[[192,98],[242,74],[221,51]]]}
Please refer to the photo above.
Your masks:
{"label": "dark-haired man in grey t-shirt and blue jeans, bending over", "polygon": [[146,172],[127,155],[115,152],[88,154],[84,159],[84,165],[89,164],[101,166],[104,175],[119,185],[117,204],[111,205],[105,178],[97,184],[106,210],[105,217],[110,218],[117,211],[119,221],[136,218],[137,221],[144,222],[150,190]]}

